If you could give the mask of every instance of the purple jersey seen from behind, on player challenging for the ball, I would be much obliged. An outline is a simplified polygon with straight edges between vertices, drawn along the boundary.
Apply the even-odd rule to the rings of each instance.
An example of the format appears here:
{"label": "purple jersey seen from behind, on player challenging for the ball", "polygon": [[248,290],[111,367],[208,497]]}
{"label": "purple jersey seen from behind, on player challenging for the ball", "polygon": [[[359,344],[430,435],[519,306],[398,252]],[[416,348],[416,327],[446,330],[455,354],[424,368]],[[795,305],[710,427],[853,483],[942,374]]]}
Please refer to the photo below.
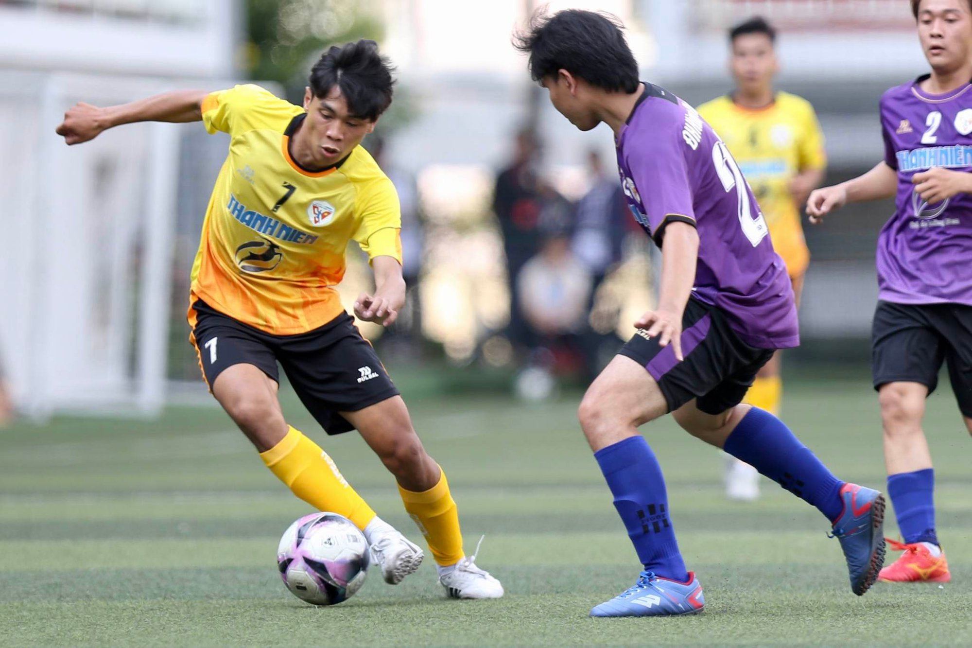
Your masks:
{"label": "purple jersey seen from behind, on player challenging for the ball", "polygon": [[799,344],[793,288],[756,198],[694,108],[645,84],[617,138],[617,163],[628,205],[659,247],[673,221],[699,231],[695,299],[722,309],[751,346]]}

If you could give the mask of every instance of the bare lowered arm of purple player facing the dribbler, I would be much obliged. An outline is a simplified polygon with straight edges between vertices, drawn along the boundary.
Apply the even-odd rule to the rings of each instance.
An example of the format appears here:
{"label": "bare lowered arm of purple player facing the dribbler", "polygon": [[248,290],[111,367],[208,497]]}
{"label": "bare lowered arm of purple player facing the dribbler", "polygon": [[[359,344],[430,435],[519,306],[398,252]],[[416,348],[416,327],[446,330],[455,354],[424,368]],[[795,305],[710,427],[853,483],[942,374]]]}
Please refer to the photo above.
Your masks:
{"label": "bare lowered arm of purple player facing the dribbler", "polygon": [[681,353],[681,316],[695,283],[699,233],[693,226],[676,221],[665,228],[663,242],[658,306],[644,313],[635,326],[647,329],[649,337],[659,336],[659,346],[672,342],[675,357],[680,361],[685,359]]}

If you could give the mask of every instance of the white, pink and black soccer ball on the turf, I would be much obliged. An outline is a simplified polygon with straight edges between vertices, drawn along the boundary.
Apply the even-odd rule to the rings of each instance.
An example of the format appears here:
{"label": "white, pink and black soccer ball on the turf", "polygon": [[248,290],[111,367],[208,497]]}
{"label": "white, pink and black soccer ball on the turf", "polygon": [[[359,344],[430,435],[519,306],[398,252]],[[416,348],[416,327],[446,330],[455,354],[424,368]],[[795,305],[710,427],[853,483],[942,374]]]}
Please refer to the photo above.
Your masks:
{"label": "white, pink and black soccer ball on the turf", "polygon": [[284,585],[315,605],[336,605],[364,584],[370,560],[364,534],[336,513],[312,513],[291,524],[277,548]]}

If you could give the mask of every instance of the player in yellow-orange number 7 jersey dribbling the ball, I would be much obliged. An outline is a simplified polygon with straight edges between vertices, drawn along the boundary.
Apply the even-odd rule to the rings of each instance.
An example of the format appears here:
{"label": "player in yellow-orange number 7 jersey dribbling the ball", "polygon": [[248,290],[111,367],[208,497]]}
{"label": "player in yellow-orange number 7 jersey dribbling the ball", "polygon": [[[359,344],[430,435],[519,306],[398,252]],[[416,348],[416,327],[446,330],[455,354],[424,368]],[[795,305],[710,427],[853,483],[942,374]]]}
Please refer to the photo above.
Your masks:
{"label": "player in yellow-orange number 7 jersey dribbling the ball", "polygon": [[213,396],[295,495],[349,518],[391,584],[423,553],[374,511],[324,450],[288,425],[277,363],[328,434],[358,429],[395,475],[446,594],[497,598],[503,586],[467,558],[445,473],[412,427],[399,391],[344,311],[334,286],[348,242],[368,254],[376,289],[355,303],[388,326],[405,300],[399,198],[360,146],[392,102],[392,69],[372,41],[332,47],[303,106],[258,86],[165,92],[98,108],[80,103],[57,127],[68,144],[133,122],[202,121],[231,137],[192,266],[189,321]]}

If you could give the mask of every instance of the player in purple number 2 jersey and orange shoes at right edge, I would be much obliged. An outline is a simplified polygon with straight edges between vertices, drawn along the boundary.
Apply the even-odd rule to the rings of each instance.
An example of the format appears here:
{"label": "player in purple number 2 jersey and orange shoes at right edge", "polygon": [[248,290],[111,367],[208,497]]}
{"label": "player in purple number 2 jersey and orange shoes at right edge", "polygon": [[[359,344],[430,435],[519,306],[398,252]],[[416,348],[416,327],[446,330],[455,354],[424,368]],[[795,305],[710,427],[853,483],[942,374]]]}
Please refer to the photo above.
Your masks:
{"label": "player in purple number 2 jersey and orange shoes at right edge", "polygon": [[931,74],[881,99],[885,160],[819,189],[811,220],[848,202],[896,197],[878,238],[872,364],[884,424],[887,492],[901,530],[890,582],[948,582],[935,531],[924,400],[948,362],[972,434],[972,0],[912,0]]}

